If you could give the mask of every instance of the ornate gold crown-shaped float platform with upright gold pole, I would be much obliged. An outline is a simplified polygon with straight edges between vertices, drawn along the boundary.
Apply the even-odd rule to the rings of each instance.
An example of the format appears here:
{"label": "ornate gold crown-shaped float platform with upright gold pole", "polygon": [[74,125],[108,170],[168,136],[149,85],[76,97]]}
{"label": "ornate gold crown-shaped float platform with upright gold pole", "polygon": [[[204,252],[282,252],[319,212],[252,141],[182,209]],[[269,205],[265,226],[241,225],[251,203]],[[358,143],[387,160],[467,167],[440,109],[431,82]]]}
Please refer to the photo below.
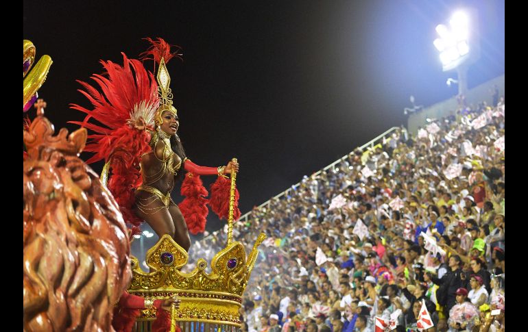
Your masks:
{"label": "ornate gold crown-shaped float platform with upright gold pole", "polygon": [[[233,160],[236,162],[236,159]],[[242,294],[258,257],[257,248],[266,235],[259,235],[247,258],[241,242],[232,241],[236,175],[234,172],[231,174],[228,243],[213,257],[211,273],[206,272],[207,261],[203,258],[197,260],[191,272],[181,272],[189,256],[167,234],[147,251],[145,261],[150,272],[144,272],[138,259],[132,257],[132,283],[128,292],[151,298],[178,296],[180,308],[172,309],[171,325],[179,322],[182,331],[197,331],[200,329],[197,324],[203,324],[207,331],[209,327],[221,327],[222,331],[241,327],[239,308]],[[148,330],[148,322],[155,318],[155,307],[143,310],[136,329]]]}

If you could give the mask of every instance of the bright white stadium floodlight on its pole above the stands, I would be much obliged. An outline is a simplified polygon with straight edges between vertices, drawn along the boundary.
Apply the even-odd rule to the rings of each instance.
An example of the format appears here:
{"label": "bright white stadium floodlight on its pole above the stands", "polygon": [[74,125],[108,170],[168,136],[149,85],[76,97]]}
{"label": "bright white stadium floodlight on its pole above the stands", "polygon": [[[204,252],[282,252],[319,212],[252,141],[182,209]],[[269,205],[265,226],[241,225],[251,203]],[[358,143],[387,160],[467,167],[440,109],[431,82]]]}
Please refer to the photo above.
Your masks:
{"label": "bright white stadium floodlight on its pole above the stands", "polygon": [[468,91],[468,68],[480,57],[477,11],[457,10],[449,20],[449,27],[439,24],[436,32],[440,38],[433,44],[440,52],[443,71],[457,70],[458,94]]}

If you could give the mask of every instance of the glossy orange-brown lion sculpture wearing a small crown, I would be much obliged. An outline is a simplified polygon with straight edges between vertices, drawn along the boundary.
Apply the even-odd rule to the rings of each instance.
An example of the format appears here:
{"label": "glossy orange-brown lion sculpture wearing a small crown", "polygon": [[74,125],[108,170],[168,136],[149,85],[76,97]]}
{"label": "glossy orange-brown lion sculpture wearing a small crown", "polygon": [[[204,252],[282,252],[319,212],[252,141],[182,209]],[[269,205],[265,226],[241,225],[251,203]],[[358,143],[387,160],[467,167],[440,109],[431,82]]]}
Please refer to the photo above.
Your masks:
{"label": "glossy orange-brown lion sculpture wearing a small crown", "polygon": [[78,157],[86,129],[53,136],[36,105],[24,131],[24,331],[114,331],[131,276],[123,216]]}

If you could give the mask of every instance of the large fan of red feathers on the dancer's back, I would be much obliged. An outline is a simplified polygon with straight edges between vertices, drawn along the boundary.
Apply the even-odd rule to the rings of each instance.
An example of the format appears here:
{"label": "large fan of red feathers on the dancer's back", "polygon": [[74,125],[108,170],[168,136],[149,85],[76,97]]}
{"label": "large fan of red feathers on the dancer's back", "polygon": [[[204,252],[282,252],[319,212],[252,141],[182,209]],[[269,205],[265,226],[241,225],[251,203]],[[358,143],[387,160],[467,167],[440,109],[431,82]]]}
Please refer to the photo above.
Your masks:
{"label": "large fan of red feathers on the dancer's back", "polygon": [[[88,136],[90,142],[84,149],[95,153],[87,163],[91,164],[101,159],[105,162],[110,160],[112,177],[108,182],[108,189],[119,204],[125,222],[138,226],[143,220],[132,211],[135,201],[133,189],[141,185],[139,162],[141,155],[150,151],[150,135],[147,131],[138,131],[130,127],[127,121],[131,118],[132,110],[138,105],[147,105],[152,109],[158,107],[158,85],[154,75],[146,71],[139,60],[129,60],[125,53],[121,54],[123,54],[122,67],[101,60],[106,73],[91,77],[101,88],[102,93],[90,84],[78,81],[85,89],[79,91],[92,103],[93,110],[72,104],[71,108],[87,115],[82,122],[69,121],[69,123],[81,125],[95,132]],[[101,125],[88,123],[92,118]],[[134,232],[137,231],[137,227],[134,227]]]}

